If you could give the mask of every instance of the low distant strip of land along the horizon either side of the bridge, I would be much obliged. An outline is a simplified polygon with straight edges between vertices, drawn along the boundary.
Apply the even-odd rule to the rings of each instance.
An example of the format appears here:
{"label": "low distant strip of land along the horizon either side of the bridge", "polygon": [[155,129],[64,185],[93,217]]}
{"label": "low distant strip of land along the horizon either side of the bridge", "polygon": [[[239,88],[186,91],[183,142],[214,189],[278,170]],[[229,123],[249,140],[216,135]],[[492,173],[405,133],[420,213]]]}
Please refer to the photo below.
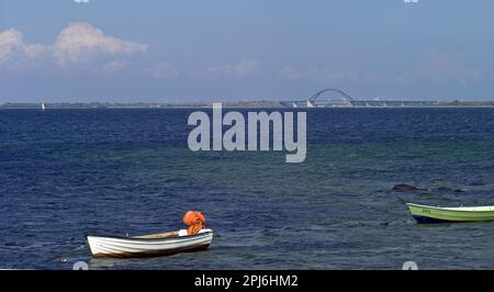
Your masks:
{"label": "low distant strip of land along the horizon either side of the bridge", "polygon": [[[182,103],[159,103],[159,102],[47,102],[46,109],[181,109],[181,108],[211,108],[213,102],[182,102]],[[226,101],[224,108],[287,108],[283,101]],[[353,106],[353,108],[492,108],[494,101],[437,101],[426,105],[386,105],[386,106]],[[325,108],[348,108],[348,106],[325,106]],[[0,104],[0,109],[41,109],[40,103],[29,102],[5,102]]]}

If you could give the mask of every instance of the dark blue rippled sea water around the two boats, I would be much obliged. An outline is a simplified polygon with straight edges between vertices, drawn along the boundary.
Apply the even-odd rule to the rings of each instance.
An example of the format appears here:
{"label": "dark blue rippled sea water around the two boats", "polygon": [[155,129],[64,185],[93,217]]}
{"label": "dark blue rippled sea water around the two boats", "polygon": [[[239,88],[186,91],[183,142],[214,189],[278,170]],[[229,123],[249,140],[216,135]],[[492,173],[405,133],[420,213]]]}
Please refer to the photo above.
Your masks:
{"label": "dark blue rippled sea water around the two boats", "polygon": [[[192,111],[1,110],[0,268],[494,268],[494,223],[418,225],[403,203],[494,205],[494,109],[310,110],[303,164],[193,153]],[[187,210],[215,229],[209,250],[66,254],[89,233],[183,228]]]}

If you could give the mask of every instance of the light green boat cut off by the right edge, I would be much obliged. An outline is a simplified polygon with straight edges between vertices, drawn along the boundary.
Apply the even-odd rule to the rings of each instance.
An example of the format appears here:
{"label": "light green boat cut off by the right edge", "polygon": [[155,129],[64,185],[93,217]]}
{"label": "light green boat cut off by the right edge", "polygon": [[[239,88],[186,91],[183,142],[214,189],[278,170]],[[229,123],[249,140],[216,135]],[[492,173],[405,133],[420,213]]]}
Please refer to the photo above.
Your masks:
{"label": "light green boat cut off by the right edge", "polygon": [[406,203],[418,223],[494,221],[494,206],[440,207]]}

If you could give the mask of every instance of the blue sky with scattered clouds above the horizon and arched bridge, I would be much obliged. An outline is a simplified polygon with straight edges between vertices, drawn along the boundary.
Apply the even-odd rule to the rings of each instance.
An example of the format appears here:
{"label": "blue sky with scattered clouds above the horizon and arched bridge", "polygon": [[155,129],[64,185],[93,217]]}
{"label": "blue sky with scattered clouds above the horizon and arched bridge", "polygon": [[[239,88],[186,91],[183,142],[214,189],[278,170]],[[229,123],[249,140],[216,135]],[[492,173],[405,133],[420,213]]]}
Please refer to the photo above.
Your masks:
{"label": "blue sky with scattered clouds above the horizon and arched bridge", "polygon": [[494,100],[492,0],[0,0],[0,103]]}

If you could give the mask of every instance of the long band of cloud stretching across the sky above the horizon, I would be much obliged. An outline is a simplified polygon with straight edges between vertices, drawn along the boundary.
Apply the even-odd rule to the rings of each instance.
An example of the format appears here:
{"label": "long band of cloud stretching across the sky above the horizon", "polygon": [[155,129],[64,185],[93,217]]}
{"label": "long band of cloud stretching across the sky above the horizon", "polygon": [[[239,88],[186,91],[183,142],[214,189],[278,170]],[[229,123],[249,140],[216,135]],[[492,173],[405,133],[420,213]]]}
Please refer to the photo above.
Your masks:
{"label": "long band of cloud stretching across the sky above the horizon", "polygon": [[[71,22],[64,27],[53,44],[31,44],[23,34],[9,29],[0,32],[0,69],[4,72],[30,72],[36,69],[82,68],[106,75],[127,70],[135,76],[156,80],[273,80],[301,85],[446,85],[467,86],[482,79],[482,72],[468,66],[464,56],[428,48],[417,54],[411,67],[396,71],[337,69],[329,65],[292,66],[271,65],[261,60],[239,58],[232,63],[217,63],[203,68],[176,67],[166,60],[133,63],[131,57],[146,53],[147,44],[139,44],[106,35],[102,30],[85,23]],[[132,70],[130,70],[132,69]],[[63,70],[61,70],[63,71]]]}

